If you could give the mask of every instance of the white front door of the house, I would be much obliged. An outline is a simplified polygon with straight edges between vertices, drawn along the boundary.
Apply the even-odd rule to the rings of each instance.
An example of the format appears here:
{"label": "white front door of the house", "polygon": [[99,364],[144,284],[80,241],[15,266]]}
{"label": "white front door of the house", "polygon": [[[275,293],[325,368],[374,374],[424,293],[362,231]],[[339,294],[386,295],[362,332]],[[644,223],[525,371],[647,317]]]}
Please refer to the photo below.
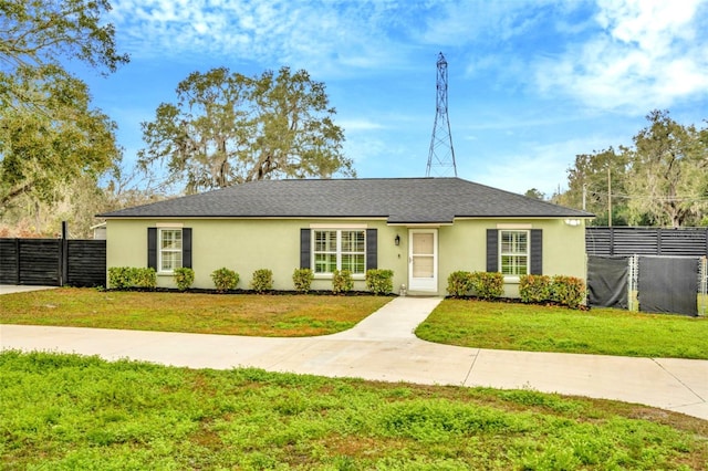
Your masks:
{"label": "white front door of the house", "polygon": [[408,231],[408,290],[438,291],[438,230]]}

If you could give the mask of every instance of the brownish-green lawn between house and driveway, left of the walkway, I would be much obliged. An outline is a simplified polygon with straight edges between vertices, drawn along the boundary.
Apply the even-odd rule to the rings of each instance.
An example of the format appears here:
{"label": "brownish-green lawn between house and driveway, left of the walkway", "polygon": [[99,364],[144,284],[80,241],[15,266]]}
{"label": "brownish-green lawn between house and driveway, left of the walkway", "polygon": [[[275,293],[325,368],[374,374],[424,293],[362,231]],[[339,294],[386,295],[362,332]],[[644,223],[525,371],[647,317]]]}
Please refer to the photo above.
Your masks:
{"label": "brownish-green lawn between house and driveway, left of the walkway", "polygon": [[3,295],[0,324],[300,337],[352,328],[388,301],[391,297],[63,287]]}

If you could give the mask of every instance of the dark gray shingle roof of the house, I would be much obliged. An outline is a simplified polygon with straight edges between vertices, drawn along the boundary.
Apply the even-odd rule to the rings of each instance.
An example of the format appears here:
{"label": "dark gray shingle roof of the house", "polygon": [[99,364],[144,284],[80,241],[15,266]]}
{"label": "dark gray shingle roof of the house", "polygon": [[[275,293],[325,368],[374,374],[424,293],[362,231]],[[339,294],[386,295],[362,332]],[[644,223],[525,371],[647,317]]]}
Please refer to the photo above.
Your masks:
{"label": "dark gray shingle roof of the house", "polygon": [[460,178],[261,180],[100,214],[113,218],[591,218],[593,214]]}

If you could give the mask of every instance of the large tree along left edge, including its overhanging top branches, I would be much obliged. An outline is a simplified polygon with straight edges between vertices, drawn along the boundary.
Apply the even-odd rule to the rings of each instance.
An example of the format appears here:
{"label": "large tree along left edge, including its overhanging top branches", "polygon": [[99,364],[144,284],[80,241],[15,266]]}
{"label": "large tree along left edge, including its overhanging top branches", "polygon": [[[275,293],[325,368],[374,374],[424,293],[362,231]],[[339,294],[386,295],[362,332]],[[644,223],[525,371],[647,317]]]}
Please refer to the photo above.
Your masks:
{"label": "large tree along left edge, including its overhanging top branches", "polygon": [[51,201],[119,155],[115,125],[61,61],[105,73],[128,61],[101,15],[106,0],[0,0],[0,213],[20,198]]}

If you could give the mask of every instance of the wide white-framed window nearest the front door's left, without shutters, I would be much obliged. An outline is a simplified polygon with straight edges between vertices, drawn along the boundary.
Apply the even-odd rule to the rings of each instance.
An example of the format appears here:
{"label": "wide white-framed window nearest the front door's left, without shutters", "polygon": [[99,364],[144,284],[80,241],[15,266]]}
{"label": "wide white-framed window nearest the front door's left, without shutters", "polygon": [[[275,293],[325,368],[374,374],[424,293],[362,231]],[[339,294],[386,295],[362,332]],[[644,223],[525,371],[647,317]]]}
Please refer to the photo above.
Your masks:
{"label": "wide white-framed window nearest the front door's left, without shutters", "polygon": [[365,230],[313,230],[313,266],[317,274],[348,270],[352,274],[366,272]]}

